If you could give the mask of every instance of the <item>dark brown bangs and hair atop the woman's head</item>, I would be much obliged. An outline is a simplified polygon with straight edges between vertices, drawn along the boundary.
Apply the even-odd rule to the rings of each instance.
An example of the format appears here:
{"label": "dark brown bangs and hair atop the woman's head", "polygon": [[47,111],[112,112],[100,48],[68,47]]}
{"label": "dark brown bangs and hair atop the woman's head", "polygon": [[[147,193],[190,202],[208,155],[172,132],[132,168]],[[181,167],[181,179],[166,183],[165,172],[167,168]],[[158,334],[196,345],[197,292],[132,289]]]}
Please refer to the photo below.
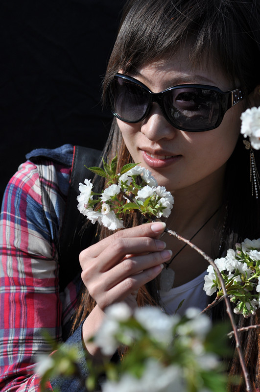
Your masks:
{"label": "dark brown bangs and hair atop the woman's head", "polygon": [[238,80],[239,87],[251,91],[256,85],[256,64],[260,59],[250,61],[249,66],[252,53],[259,53],[249,34],[253,26],[245,25],[250,19],[252,23],[250,14],[252,9],[247,10],[246,2],[228,0],[128,2],[104,90],[119,70],[135,74],[143,65],[174,56],[186,46],[191,67],[200,67],[206,59],[209,67],[220,69],[234,86]]}

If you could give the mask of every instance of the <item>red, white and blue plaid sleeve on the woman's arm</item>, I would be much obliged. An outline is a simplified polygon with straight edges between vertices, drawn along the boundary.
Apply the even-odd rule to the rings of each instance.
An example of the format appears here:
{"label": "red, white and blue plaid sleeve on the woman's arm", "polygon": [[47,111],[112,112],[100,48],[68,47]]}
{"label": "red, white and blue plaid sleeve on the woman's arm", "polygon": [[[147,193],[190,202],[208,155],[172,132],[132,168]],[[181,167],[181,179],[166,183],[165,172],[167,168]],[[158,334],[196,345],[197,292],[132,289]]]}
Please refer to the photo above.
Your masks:
{"label": "red, white and blue plaid sleeve on the woman's arm", "polygon": [[[70,169],[27,161],[11,178],[0,216],[0,390],[38,391],[43,330],[62,336],[56,250]],[[49,385],[51,390],[51,387]]]}

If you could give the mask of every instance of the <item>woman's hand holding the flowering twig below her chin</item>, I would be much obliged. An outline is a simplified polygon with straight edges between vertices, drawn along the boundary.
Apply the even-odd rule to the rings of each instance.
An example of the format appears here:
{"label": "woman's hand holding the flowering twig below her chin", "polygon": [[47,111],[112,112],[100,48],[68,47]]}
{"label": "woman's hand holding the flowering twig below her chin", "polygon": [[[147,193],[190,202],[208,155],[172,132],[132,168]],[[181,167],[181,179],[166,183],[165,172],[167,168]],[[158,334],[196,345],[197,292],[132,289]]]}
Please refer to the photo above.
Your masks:
{"label": "woman's hand holding the flowering twig below her chin", "polygon": [[82,280],[101,310],[130,300],[161,272],[172,254],[158,239],[164,229],[153,222],[121,230],[80,253]]}

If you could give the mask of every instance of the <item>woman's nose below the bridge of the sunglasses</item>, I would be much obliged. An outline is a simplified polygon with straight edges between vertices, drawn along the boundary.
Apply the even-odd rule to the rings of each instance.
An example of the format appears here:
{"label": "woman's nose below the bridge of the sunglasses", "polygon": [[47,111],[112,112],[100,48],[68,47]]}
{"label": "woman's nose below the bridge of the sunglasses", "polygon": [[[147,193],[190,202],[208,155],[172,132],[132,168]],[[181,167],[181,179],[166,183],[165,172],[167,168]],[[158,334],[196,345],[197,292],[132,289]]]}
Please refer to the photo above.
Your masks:
{"label": "woman's nose below the bridge of the sunglasses", "polygon": [[161,139],[171,140],[175,137],[177,129],[165,119],[158,103],[153,103],[152,108],[142,122],[141,132],[151,141]]}

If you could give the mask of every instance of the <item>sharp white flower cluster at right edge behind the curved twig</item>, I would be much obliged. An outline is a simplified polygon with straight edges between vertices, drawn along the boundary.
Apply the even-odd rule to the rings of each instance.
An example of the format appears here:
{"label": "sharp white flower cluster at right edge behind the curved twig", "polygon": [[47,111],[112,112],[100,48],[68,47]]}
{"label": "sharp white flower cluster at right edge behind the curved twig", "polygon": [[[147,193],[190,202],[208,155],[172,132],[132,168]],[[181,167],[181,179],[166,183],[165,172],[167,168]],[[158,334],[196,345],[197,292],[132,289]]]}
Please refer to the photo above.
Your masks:
{"label": "sharp white flower cluster at right edge behind the curved twig", "polygon": [[[236,244],[236,250],[229,249],[227,256],[215,260],[215,264],[225,282],[230,300],[236,304],[235,313],[244,317],[255,315],[260,308],[260,239],[245,239]],[[207,295],[217,291],[223,295],[219,278],[212,266],[204,277],[204,290]]]}

